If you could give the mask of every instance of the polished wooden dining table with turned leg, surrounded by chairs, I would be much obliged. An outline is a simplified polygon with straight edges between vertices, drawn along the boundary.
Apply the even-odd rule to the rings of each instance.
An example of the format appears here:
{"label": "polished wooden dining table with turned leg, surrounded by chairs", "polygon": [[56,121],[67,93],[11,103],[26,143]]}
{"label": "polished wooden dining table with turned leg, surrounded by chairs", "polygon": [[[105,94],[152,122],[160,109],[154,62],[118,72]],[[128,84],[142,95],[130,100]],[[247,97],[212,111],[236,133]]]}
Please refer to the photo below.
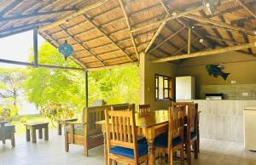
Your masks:
{"label": "polished wooden dining table with turned leg, surrounded by chairs", "polygon": [[[148,141],[148,163],[155,164],[154,159],[154,138],[168,130],[169,112],[166,110],[150,111],[147,113],[135,114],[135,122],[137,126],[137,136],[144,136]],[[105,121],[96,122],[102,126],[102,134],[104,135],[104,155],[106,162],[108,160],[108,152],[106,146],[106,126]]]}

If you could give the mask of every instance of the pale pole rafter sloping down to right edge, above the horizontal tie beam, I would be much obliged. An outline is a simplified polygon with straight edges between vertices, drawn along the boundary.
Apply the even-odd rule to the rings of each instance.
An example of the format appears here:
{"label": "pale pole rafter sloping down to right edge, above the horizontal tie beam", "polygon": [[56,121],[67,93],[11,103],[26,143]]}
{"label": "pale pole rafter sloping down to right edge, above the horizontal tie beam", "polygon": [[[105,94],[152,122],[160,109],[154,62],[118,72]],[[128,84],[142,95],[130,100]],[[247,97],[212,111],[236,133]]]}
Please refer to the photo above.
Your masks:
{"label": "pale pole rafter sloping down to right edge, above the horizontal tie beam", "polygon": [[197,15],[193,15],[193,14],[187,14],[184,15],[184,17],[189,18],[189,19],[193,19],[193,20],[197,20],[203,23],[209,23],[215,26],[220,26],[220,27],[225,27],[228,28],[230,30],[235,30],[235,31],[243,31],[243,32],[247,32],[250,35],[255,36],[256,35],[256,31],[244,28],[244,27],[240,27],[240,26],[232,26],[230,24],[218,21],[218,20],[212,20],[212,19],[207,19],[207,18],[203,18]]}

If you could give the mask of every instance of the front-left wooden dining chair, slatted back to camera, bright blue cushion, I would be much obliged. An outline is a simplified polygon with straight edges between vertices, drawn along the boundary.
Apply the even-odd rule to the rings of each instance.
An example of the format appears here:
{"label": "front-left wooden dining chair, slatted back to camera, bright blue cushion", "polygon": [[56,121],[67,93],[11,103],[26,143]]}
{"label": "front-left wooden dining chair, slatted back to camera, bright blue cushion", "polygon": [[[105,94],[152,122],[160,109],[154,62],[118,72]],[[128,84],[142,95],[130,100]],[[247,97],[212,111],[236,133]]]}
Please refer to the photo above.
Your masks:
{"label": "front-left wooden dining chair, slatted back to camera, bright blue cushion", "polygon": [[[113,109],[113,108],[112,108]],[[105,111],[108,162],[148,164],[148,145],[137,144],[135,111]]]}

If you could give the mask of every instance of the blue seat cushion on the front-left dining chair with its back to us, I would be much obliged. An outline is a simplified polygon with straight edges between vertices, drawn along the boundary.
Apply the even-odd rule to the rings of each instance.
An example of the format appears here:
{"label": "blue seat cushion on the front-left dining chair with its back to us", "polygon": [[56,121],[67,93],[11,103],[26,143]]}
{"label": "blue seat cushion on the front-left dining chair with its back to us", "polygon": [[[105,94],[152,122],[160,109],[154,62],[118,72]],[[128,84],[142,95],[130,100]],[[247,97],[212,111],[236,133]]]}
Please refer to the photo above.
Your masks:
{"label": "blue seat cushion on the front-left dining chair with its back to us", "polygon": [[[134,152],[130,148],[114,146],[113,148],[111,148],[109,150],[109,152],[112,154],[119,155],[119,156],[129,157],[131,159],[134,158]],[[147,155],[148,154],[148,145],[137,144],[137,152],[138,152],[139,157]]]}

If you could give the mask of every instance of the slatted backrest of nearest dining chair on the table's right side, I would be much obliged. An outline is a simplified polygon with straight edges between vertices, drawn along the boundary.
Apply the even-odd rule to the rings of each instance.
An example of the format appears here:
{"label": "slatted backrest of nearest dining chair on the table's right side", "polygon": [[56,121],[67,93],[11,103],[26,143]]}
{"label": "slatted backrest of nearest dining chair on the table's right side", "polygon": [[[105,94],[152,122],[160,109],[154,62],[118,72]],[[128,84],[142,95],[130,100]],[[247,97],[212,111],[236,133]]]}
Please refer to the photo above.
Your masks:
{"label": "slatted backrest of nearest dining chair on the table's right side", "polygon": [[183,140],[184,109],[182,107],[169,106],[168,146],[172,149],[172,139],[179,137]]}

